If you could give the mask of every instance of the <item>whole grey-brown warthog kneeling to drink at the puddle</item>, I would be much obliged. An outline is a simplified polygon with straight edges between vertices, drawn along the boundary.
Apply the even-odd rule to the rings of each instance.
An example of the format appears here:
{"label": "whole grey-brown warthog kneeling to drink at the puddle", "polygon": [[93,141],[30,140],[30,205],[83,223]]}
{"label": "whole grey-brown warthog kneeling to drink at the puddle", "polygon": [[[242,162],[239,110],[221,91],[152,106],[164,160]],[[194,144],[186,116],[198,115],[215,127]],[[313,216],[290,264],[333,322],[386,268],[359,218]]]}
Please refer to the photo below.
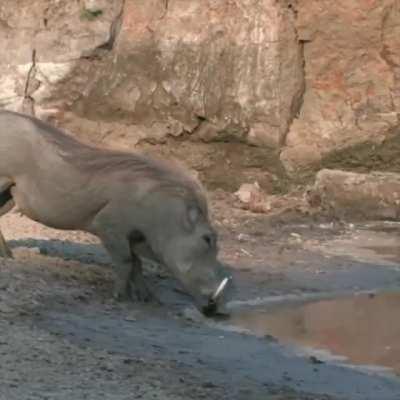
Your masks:
{"label": "whole grey-brown warthog kneeling to drink at the puddle", "polygon": [[[39,119],[0,111],[0,216],[14,205],[43,225],[96,235],[113,261],[117,298],[152,299],[146,255],[204,314],[226,303],[230,277],[217,259],[204,191],[166,161],[92,147]],[[0,255],[12,255],[1,232]]]}

